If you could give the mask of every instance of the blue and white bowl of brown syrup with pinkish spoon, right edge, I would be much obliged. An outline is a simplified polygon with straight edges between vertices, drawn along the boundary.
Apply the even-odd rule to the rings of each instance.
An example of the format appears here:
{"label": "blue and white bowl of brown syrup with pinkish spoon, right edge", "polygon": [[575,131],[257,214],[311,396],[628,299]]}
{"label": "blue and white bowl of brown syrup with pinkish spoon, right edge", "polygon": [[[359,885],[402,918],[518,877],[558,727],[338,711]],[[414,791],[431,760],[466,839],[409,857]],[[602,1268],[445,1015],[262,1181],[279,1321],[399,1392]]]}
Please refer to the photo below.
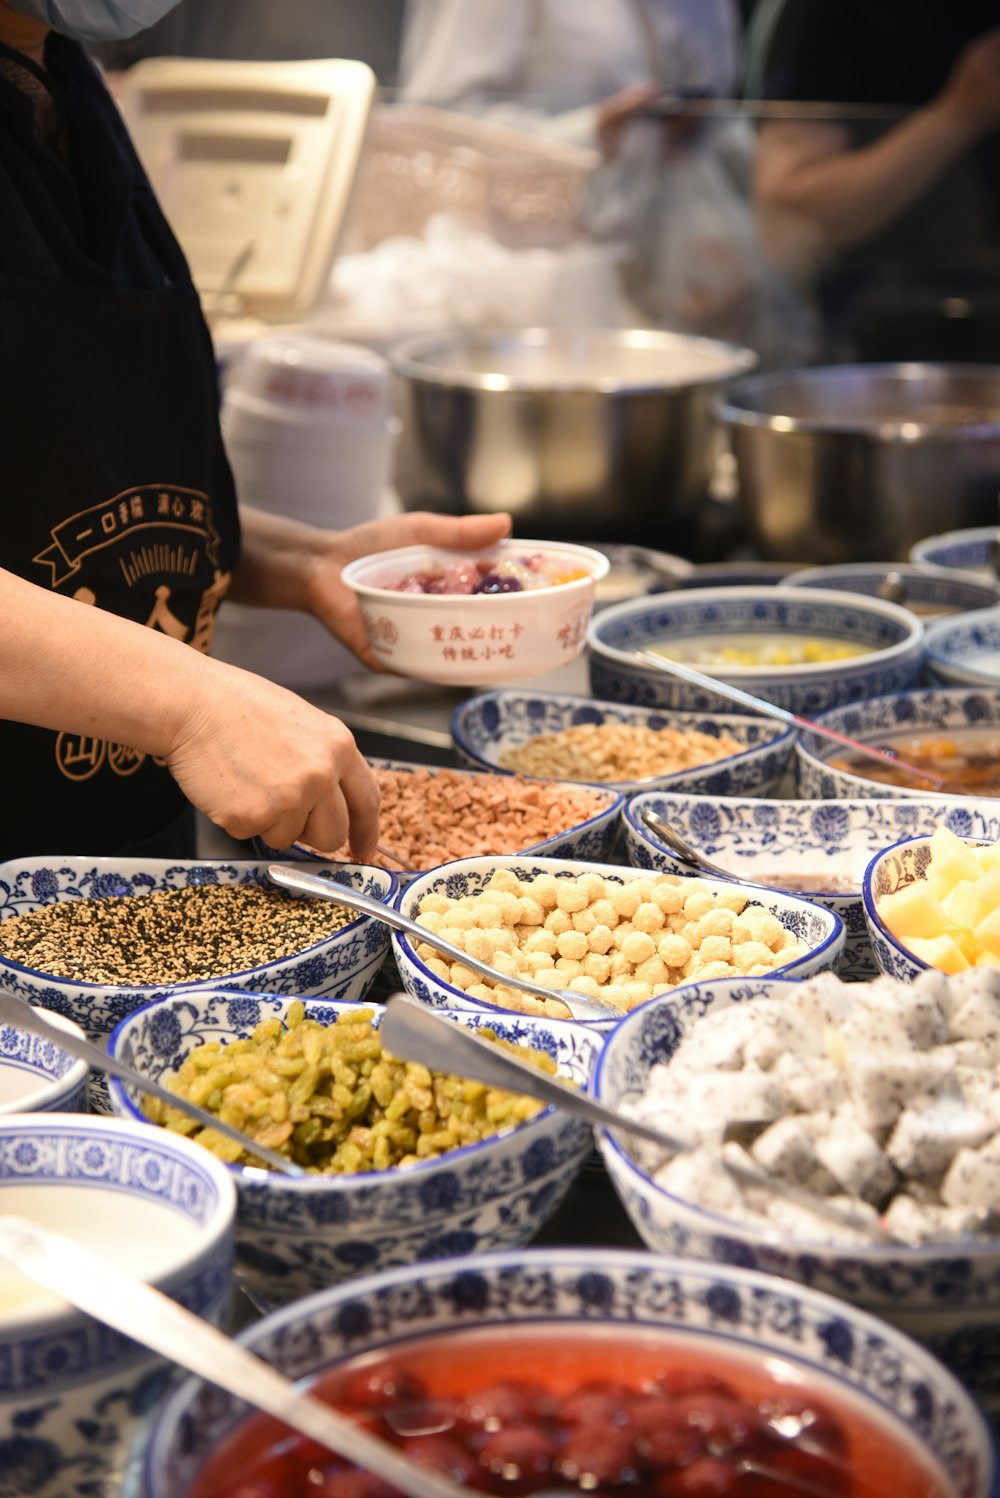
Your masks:
{"label": "blue and white bowl of brown syrup with pinkish spoon, right edge", "polygon": [[[936,686],[922,692],[897,692],[876,697],[870,703],[834,707],[822,713],[819,722],[835,733],[874,745],[891,742],[897,734],[918,739],[961,728],[996,728],[1000,736],[1000,686]],[[900,752],[906,758],[906,750]],[[889,785],[855,770],[838,768],[829,761],[841,753],[850,750],[819,734],[799,734],[795,742],[795,773],[801,797],[810,801],[868,800],[876,795],[912,800],[916,794],[921,800],[945,801],[949,806],[963,806],[970,800],[946,791],[915,792],[904,785]],[[984,797],[976,800],[982,801]],[[964,836],[961,818],[954,830]]]}

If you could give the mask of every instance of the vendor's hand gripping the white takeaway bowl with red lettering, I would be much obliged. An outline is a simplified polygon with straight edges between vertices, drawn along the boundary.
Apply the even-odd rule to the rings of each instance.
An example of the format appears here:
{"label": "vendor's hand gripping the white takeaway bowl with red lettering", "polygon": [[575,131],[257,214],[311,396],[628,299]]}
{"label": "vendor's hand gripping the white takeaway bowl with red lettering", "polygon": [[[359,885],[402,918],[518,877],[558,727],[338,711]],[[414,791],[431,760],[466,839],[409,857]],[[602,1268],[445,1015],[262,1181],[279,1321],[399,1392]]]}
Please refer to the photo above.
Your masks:
{"label": "vendor's hand gripping the white takeaway bowl with red lettering", "polygon": [[[394,515],[389,520],[371,520],[350,530],[331,533],[323,550],[311,563],[308,580],[310,613],[326,625],[349,650],[373,671],[383,671],[371,647],[361,619],[358,596],[346,587],[340,574],[349,562],[370,556],[373,551],[392,551],[395,547],[446,547],[458,554],[482,551],[503,541],[510,532],[510,517],[497,515],[433,515],[413,511],[409,515]],[[314,839],[310,839],[314,842]],[[337,848],[338,843],[316,843],[317,848]]]}

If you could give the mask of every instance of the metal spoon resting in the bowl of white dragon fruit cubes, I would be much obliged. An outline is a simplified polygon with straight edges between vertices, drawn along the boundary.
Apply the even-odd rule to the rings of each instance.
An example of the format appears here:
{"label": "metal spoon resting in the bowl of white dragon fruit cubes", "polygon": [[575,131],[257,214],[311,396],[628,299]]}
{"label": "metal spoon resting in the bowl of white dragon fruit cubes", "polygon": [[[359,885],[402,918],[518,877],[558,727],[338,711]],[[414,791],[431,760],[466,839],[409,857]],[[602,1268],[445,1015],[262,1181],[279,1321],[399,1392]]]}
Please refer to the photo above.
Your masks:
{"label": "metal spoon resting in the bowl of white dragon fruit cubes", "polygon": [[[585,1092],[579,1092],[578,1088],[570,1088],[566,1082],[546,1076],[512,1052],[481,1040],[473,1031],[455,1025],[443,1014],[436,1014],[424,1004],[407,999],[403,993],[394,993],[386,1001],[379,1034],[382,1044],[406,1061],[419,1061],[439,1071],[475,1077],[493,1088],[527,1094],[540,1103],[563,1109],[566,1113],[575,1113],[587,1124],[624,1129],[638,1138],[650,1140],[671,1155],[687,1155],[698,1147],[689,1140],[675,1138],[672,1134],[665,1134],[663,1129],[629,1118],[618,1109],[597,1103]],[[849,1207],[826,1201],[825,1197],[817,1197],[811,1191],[781,1180],[757,1165],[740,1165],[723,1155],[719,1156],[719,1164],[744,1186],[762,1188],[771,1195],[786,1197],[798,1206],[808,1207],[816,1216],[835,1222],[838,1227],[847,1227],[855,1233],[864,1233],[865,1237],[879,1243],[900,1242],[879,1222],[873,1222],[861,1212],[852,1212]]]}

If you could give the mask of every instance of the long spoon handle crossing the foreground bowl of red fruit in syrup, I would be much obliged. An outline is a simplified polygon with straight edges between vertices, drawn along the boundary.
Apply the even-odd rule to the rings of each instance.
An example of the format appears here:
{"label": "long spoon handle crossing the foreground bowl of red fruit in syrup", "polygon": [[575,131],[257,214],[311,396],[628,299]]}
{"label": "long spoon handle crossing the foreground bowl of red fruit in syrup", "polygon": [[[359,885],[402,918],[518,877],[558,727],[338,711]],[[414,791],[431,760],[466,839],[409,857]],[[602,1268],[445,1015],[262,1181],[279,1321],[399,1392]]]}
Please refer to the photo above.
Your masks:
{"label": "long spoon handle crossing the foreground bowl of red fruit in syrup", "polygon": [[467,1489],[407,1461],[208,1321],[61,1233],[0,1216],[0,1257],[79,1311],[320,1441],[407,1498],[469,1498]]}

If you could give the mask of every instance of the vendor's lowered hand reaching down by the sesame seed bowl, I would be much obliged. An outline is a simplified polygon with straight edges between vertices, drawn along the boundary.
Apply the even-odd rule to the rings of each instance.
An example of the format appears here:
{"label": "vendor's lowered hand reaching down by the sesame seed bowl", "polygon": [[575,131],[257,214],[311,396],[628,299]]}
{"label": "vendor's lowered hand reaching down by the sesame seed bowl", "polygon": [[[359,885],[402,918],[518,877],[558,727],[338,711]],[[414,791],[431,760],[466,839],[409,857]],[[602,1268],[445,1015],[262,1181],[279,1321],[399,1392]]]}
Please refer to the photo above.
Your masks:
{"label": "vendor's lowered hand reaching down by the sesame seed bowl", "polygon": [[163,756],[187,798],[232,837],[272,848],[350,842],[368,863],[379,836],[379,785],[340,719],[283,686],[201,661]]}

